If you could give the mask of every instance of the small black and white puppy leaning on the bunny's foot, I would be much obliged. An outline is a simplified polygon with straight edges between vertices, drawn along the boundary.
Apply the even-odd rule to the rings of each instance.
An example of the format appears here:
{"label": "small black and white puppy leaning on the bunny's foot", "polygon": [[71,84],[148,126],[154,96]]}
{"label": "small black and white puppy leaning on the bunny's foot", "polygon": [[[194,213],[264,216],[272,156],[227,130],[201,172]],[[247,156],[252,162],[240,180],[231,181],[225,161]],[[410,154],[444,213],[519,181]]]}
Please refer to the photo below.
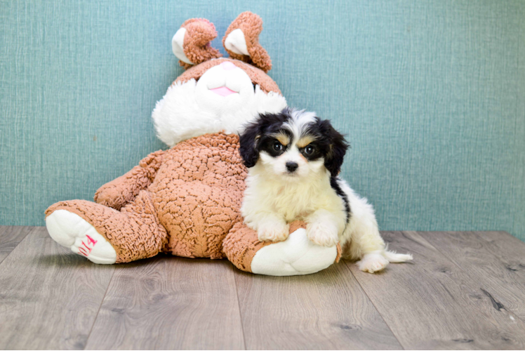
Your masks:
{"label": "small black and white puppy leaning on the bunny's foot", "polygon": [[411,260],[386,250],[373,207],[338,177],[348,144],[330,121],[286,107],[260,114],[240,135],[248,168],[241,213],[260,241],[282,241],[293,220],[305,220],[320,246],[340,243],[343,257],[365,272]]}

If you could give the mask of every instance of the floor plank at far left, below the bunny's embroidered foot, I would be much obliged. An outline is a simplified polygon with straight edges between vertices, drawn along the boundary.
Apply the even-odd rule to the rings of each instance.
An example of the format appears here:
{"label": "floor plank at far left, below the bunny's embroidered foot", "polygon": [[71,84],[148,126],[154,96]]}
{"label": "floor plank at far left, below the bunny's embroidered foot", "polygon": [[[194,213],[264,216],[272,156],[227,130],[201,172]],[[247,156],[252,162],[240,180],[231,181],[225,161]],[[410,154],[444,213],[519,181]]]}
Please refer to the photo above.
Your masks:
{"label": "floor plank at far left, below the bunny's embroidered foot", "polygon": [[27,234],[0,264],[0,350],[83,350],[113,271]]}

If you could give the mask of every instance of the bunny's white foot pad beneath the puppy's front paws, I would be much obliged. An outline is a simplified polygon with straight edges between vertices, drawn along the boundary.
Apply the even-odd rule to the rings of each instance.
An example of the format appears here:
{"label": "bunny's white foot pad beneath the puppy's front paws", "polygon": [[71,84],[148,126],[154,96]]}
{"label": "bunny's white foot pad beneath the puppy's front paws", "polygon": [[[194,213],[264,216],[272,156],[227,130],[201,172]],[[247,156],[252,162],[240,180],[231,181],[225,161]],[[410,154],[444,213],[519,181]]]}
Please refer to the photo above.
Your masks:
{"label": "bunny's white foot pad beneath the puppy's front paws", "polygon": [[337,247],[319,246],[310,241],[300,228],[286,241],[260,249],[251,261],[251,271],[265,275],[302,275],[324,270],[337,257]]}

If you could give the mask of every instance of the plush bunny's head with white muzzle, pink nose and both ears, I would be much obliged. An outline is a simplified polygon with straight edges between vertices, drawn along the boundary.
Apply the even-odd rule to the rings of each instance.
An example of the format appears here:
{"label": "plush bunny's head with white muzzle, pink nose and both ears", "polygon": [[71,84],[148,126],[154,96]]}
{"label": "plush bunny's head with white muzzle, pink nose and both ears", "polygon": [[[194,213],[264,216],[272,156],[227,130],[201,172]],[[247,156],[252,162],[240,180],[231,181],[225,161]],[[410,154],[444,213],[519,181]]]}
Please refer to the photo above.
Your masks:
{"label": "plush bunny's head with white muzzle, pink nose and both ears", "polygon": [[[244,22],[239,22],[239,18]],[[253,36],[250,26],[260,18],[253,13],[243,13],[239,18],[232,25],[240,25]],[[262,62],[260,66],[269,69],[270,57],[260,54],[264,49],[257,38],[244,39],[241,28],[232,29],[232,25],[227,34],[233,38],[226,36],[223,42],[228,44],[228,52],[228,46],[234,50],[239,46],[248,53],[244,58],[231,52],[243,60],[218,58],[220,53],[208,44],[213,34],[216,36],[215,27],[207,20],[188,20],[173,37],[173,52],[187,71],[168,88],[152,114],[159,138],[169,146],[206,133],[240,133],[258,114],[277,113],[286,107],[277,84],[256,67],[257,62]],[[259,32],[255,34],[258,36]],[[250,51],[258,54],[259,61],[251,60]],[[260,61],[261,57],[265,60]],[[195,61],[201,62],[193,65]]]}

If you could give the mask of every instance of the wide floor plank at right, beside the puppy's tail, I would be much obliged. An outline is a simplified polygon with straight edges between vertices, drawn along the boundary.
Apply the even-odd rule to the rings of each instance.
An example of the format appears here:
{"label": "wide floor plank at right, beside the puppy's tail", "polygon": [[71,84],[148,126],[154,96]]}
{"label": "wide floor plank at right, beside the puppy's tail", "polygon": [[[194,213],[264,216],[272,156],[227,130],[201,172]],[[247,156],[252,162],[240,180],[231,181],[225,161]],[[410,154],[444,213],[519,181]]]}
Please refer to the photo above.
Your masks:
{"label": "wide floor plank at right, beside the puppy's tail", "polygon": [[383,232],[413,264],[354,276],[406,350],[524,350],[525,324],[416,232]]}

